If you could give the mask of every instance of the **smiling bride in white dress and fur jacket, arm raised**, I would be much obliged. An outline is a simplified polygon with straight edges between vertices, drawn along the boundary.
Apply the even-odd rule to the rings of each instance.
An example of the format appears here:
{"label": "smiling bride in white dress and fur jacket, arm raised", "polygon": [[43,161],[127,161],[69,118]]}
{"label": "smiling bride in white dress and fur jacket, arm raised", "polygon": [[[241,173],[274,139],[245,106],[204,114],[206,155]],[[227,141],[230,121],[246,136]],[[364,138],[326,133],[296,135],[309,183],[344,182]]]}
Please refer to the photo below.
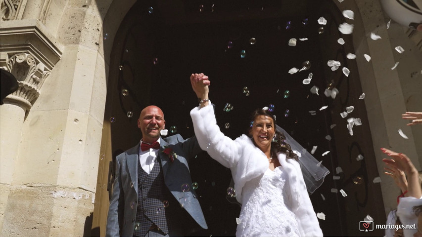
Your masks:
{"label": "smiling bride in white dress and fur jacket, arm raised", "polygon": [[190,111],[199,145],[231,169],[236,199],[242,204],[236,237],[323,236],[298,157],[268,109],[252,113],[249,136],[232,140],[217,125],[208,77],[192,74],[190,83],[200,100]]}

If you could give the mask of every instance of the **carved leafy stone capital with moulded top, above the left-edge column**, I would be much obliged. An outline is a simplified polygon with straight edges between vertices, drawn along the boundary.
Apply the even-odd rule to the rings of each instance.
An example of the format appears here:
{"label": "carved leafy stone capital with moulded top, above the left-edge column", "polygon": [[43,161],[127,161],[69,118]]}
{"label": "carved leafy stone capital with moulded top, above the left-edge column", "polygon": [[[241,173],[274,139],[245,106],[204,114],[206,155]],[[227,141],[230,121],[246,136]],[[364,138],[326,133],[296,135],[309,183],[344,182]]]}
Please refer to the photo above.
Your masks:
{"label": "carved leafy stone capital with moulded top, above the left-edge column", "polygon": [[10,72],[19,88],[3,102],[18,104],[27,111],[40,96],[40,89],[60,60],[62,49],[34,20],[2,22],[0,68]]}

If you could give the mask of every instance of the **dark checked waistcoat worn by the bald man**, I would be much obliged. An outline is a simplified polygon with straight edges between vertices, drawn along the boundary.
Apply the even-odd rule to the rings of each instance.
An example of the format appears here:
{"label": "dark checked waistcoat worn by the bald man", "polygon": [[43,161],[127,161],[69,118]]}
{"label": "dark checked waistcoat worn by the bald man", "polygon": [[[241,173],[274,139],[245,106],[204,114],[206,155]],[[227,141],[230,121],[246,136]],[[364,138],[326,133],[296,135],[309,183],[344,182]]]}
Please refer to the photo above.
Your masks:
{"label": "dark checked waistcoat worn by the bald man", "polygon": [[176,224],[171,221],[180,220],[178,213],[182,208],[164,183],[158,158],[149,175],[141,168],[139,159],[138,167],[138,207],[134,236],[145,236],[152,224],[167,234]]}

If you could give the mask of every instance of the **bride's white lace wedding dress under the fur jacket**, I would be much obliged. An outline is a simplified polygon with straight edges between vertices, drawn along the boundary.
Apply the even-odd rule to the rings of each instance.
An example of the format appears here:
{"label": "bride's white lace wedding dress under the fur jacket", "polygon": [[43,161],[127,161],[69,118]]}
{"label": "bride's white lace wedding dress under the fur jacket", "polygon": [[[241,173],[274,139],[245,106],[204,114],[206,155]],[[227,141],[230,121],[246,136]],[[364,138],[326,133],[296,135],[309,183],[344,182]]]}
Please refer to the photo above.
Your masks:
{"label": "bride's white lace wedding dress under the fur jacket", "polygon": [[247,182],[236,237],[297,237],[288,176],[279,166]]}

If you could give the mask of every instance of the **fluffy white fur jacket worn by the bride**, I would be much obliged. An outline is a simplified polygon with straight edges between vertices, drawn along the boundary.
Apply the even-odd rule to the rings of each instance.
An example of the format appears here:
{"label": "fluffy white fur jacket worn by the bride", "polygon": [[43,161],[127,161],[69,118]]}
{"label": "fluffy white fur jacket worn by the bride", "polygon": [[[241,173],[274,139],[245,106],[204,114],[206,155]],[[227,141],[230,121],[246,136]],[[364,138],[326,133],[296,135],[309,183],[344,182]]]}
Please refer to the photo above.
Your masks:
{"label": "fluffy white fur jacket worn by the bride", "polygon": [[[190,116],[202,150],[231,169],[236,199],[242,203],[242,189],[245,183],[268,170],[270,163],[267,156],[244,134],[235,140],[226,137],[217,125],[211,103],[204,108],[193,108]],[[289,178],[291,211],[298,220],[300,235],[323,236],[299,163],[294,159],[286,159],[283,153],[279,153],[278,158]]]}

